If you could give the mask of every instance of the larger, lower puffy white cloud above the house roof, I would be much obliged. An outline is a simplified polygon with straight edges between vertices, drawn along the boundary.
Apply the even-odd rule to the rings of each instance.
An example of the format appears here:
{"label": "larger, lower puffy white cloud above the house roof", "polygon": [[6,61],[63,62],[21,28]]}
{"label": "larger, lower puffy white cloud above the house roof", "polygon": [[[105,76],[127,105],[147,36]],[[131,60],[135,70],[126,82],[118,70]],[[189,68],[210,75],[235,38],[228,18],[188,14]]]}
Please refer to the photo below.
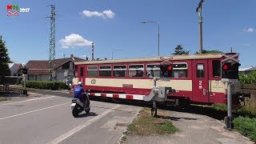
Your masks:
{"label": "larger, lower puffy white cloud above the house roof", "polygon": [[59,40],[62,48],[70,48],[74,46],[91,46],[92,42],[82,38],[79,34],[70,34],[67,35],[65,38]]}

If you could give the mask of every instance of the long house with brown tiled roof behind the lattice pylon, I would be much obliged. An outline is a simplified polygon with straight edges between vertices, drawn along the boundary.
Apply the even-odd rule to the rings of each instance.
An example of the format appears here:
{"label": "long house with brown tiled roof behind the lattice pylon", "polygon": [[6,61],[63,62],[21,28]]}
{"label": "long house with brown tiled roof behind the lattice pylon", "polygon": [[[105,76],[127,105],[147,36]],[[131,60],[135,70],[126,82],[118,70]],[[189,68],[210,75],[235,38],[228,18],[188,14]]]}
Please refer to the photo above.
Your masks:
{"label": "long house with brown tiled roof behind the lattice pylon", "polygon": [[[74,62],[82,61],[86,60],[74,57],[73,54],[70,54],[70,58],[55,59],[56,81],[64,81],[66,76],[70,77],[70,79],[74,78]],[[48,81],[50,78],[49,65],[49,61],[42,60],[30,60],[29,62],[27,62],[26,67],[28,68],[28,80]]]}

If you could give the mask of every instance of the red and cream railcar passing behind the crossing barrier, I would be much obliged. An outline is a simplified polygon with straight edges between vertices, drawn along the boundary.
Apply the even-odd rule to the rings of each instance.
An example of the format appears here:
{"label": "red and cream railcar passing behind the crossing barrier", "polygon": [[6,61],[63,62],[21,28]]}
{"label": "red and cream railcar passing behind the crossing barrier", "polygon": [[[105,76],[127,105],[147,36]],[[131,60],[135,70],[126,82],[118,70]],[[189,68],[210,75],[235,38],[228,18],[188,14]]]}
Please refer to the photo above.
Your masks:
{"label": "red and cream railcar passing behind the crossing barrier", "polygon": [[[154,77],[158,78],[156,86],[176,90],[167,99],[226,103],[222,59],[223,54],[195,54],[75,62],[73,85],[83,82],[91,96],[143,100],[154,86]],[[239,90],[238,86],[235,84],[232,93]]]}

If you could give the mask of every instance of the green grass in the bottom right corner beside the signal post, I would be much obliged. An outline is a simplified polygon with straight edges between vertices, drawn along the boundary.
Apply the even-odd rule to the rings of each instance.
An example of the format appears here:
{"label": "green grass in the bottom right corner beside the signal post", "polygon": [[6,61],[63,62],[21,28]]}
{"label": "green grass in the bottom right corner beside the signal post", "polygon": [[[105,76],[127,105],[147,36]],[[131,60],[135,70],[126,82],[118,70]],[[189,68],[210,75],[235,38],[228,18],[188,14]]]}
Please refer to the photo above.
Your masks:
{"label": "green grass in the bottom right corner beside the signal post", "polygon": [[234,118],[234,127],[238,132],[256,142],[256,118]]}

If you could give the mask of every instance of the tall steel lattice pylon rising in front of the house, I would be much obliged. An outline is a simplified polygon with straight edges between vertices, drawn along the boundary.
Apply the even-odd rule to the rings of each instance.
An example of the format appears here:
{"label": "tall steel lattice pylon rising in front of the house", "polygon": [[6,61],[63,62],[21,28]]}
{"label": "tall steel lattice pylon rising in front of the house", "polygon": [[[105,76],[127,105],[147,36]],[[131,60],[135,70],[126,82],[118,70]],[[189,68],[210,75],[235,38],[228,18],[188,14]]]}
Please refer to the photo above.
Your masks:
{"label": "tall steel lattice pylon rising in front of the house", "polygon": [[54,81],[55,74],[55,5],[49,5],[51,7],[50,17],[50,50],[49,50],[49,75],[50,81]]}

